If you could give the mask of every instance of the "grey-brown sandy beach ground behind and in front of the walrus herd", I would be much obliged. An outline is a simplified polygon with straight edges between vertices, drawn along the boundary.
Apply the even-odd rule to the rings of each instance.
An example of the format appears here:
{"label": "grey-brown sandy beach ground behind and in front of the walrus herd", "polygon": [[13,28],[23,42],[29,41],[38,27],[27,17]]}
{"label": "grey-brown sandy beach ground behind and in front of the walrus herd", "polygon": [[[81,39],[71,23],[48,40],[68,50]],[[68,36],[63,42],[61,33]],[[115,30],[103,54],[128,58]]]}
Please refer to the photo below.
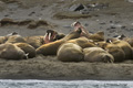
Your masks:
{"label": "grey-brown sandy beach ground behind and in front of the walrus herd", "polygon": [[[109,3],[108,8],[68,12],[74,3]],[[105,38],[117,34],[133,35],[133,3],[127,0],[0,0],[0,20],[44,20],[48,25],[28,29],[29,24],[0,26],[0,35],[18,32],[22,36],[43,35],[48,29],[68,34],[72,22],[80,21],[90,32],[104,31]],[[0,59],[1,79],[133,79],[133,61],[117,64],[62,63],[55,56],[37,56],[23,61]]]}

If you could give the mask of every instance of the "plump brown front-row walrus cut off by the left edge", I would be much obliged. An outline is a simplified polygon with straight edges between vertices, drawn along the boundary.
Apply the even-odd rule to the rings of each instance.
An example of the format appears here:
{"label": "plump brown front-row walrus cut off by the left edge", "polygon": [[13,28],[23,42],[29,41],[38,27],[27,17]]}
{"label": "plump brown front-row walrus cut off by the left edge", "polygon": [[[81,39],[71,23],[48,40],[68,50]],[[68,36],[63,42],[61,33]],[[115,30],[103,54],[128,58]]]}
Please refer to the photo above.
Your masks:
{"label": "plump brown front-row walrus cut off by the left edge", "polygon": [[0,44],[0,58],[18,61],[18,59],[27,59],[28,56],[18,46],[11,43],[6,43],[6,44]]}

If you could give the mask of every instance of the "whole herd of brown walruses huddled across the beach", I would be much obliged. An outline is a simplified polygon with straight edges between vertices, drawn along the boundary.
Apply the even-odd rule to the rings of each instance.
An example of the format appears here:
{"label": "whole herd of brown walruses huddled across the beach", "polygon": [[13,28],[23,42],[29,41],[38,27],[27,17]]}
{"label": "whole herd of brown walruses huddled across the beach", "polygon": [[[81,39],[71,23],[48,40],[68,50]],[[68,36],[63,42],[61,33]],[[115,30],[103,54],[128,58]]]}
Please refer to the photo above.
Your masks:
{"label": "whole herd of brown walruses huddled across the beach", "polygon": [[133,38],[105,38],[104,32],[89,33],[80,22],[64,35],[48,30],[44,35],[21,36],[13,32],[0,36],[0,58],[28,59],[37,55],[57,55],[61,62],[121,63],[133,59]]}

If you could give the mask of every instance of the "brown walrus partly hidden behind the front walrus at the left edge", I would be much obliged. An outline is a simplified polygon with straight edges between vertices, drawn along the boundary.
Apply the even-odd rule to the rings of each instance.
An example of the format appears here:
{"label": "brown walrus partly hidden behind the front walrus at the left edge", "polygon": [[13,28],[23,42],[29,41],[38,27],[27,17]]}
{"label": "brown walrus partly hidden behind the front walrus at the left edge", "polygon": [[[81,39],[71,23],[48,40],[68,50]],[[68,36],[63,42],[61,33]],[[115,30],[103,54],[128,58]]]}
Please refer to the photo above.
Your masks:
{"label": "brown walrus partly hidden behind the front walrus at the left edge", "polygon": [[28,58],[35,57],[35,48],[28,43],[14,43],[18,47],[20,47],[25,54],[28,54]]}

